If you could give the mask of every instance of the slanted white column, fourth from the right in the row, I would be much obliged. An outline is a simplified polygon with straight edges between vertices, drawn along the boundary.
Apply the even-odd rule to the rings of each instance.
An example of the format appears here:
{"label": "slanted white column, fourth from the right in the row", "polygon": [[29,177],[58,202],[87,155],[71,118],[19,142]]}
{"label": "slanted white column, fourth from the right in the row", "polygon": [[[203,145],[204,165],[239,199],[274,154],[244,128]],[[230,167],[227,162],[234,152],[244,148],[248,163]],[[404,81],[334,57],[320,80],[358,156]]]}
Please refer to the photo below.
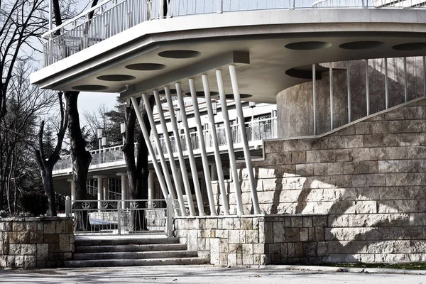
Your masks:
{"label": "slanted white column, fourth from the right in the row", "polygon": [[[197,124],[198,143],[201,149],[202,170],[204,172],[204,180],[206,182],[207,198],[209,199],[210,214],[216,215],[214,208],[214,196],[212,190],[212,180],[210,178],[209,162],[207,160],[206,146],[204,143],[204,134],[202,133],[202,124],[200,118],[200,109],[198,109],[197,91],[195,89],[194,79],[190,79],[190,92],[192,98],[192,108],[194,109],[195,124]],[[206,98],[207,100],[207,98]]]}

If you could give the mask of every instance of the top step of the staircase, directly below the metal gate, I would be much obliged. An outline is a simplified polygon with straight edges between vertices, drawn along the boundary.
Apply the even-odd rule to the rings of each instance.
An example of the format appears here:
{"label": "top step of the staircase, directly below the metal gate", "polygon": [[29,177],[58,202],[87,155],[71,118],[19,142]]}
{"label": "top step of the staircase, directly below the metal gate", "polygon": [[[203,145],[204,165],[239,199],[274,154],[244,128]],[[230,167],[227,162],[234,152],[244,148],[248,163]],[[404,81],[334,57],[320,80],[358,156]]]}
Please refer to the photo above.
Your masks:
{"label": "top step of the staircase, directly below the metal gate", "polygon": [[75,239],[75,246],[120,246],[138,244],[179,244],[177,238]]}

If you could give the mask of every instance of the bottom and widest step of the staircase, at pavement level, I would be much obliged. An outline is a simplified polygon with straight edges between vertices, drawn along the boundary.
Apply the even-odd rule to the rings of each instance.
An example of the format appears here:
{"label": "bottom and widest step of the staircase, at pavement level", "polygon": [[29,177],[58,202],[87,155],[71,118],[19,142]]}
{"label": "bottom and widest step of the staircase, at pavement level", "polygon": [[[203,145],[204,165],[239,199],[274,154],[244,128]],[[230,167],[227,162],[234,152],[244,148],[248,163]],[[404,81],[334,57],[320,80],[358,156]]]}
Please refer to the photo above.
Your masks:
{"label": "bottom and widest step of the staircase, at pavement level", "polygon": [[148,258],[148,259],[103,259],[88,261],[65,261],[66,267],[111,267],[111,266],[182,266],[207,264],[209,258]]}

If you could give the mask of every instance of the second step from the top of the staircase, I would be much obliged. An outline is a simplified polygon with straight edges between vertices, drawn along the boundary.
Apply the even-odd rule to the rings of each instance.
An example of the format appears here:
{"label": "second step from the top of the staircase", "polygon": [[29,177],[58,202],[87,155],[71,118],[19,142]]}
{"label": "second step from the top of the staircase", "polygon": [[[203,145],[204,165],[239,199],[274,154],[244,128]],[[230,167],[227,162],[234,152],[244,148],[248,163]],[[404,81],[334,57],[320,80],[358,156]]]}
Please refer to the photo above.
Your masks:
{"label": "second step from the top of the staircase", "polygon": [[131,251],[185,251],[186,244],[132,244],[119,246],[75,246],[75,253],[113,253]]}

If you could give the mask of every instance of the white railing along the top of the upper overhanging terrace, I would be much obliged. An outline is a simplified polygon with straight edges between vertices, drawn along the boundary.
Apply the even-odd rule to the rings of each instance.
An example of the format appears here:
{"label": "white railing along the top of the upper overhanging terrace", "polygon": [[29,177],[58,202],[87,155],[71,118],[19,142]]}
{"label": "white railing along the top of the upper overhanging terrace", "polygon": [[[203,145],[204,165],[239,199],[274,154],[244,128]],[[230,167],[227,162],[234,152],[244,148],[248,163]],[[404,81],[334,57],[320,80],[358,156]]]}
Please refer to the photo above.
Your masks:
{"label": "white railing along the top of the upper overhanging terrace", "polygon": [[[163,1],[167,3],[164,11]],[[425,0],[107,0],[45,33],[48,66],[143,21],[173,16],[268,9],[425,9]],[[93,13],[92,18],[90,14]],[[166,16],[163,16],[165,15]]]}

